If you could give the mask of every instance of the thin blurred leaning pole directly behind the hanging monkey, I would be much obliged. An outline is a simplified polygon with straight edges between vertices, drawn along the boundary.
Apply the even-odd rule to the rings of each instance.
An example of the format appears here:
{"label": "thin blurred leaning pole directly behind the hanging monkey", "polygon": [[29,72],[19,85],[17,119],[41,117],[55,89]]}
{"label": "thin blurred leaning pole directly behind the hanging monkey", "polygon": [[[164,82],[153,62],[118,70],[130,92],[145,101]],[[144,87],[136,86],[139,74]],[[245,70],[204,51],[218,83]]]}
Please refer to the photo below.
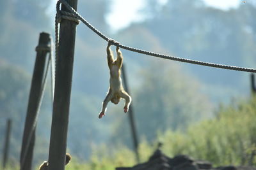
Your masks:
{"label": "thin blurred leaning pole directly behind the hanging monkey", "polygon": [[[127,85],[127,79],[126,79],[126,74],[125,74],[125,67],[124,64],[122,66],[122,78],[123,78],[123,82],[124,82],[124,89],[126,90],[126,92],[128,94],[130,94],[129,89],[128,89],[128,85]],[[130,94],[131,95],[131,94]],[[140,156],[139,156],[139,152],[138,152],[138,136],[137,136],[137,131],[136,131],[136,125],[135,125],[135,120],[134,120],[134,114],[133,114],[133,107],[132,104],[129,107],[129,122],[131,125],[131,133],[132,133],[132,139],[133,139],[133,145],[134,145],[134,152],[136,154],[136,159],[138,162],[140,162]]]}

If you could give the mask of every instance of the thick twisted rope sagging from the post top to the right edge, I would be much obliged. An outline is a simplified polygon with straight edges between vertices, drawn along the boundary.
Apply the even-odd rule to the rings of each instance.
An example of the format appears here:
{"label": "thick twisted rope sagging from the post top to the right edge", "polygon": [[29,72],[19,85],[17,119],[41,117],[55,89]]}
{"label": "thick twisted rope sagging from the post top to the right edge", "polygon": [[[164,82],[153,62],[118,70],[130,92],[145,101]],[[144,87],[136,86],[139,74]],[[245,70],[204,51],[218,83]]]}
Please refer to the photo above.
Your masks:
{"label": "thick twisted rope sagging from the post top to the right edge", "polygon": [[[60,10],[60,3],[64,4],[65,7],[67,8],[67,10],[69,10],[71,13],[73,13],[76,18],[81,20],[81,22],[83,22],[87,27],[92,29],[92,31],[95,32],[96,34],[98,34],[101,38],[105,39],[106,41],[113,41],[113,39],[109,39],[107,36],[105,36],[100,31],[95,29],[95,27],[93,27],[93,25],[91,25],[88,21],[86,21],[83,17],[81,17],[81,15],[79,15],[79,13],[77,13],[77,11],[74,10],[74,8],[72,8],[65,0],[59,0],[58,1],[58,3],[57,3],[57,13],[58,13],[58,10]],[[57,22],[57,20],[56,20],[56,22]],[[58,23],[57,23],[56,28],[58,29]],[[56,40],[58,40],[58,38],[56,38]],[[58,42],[58,41],[56,41],[56,42]],[[145,55],[151,55],[151,56],[159,57],[159,58],[163,58],[163,59],[176,60],[176,61],[180,61],[180,62],[187,62],[187,63],[190,63],[190,64],[197,64],[197,65],[200,65],[200,66],[209,66],[209,67],[217,67],[217,68],[221,68],[221,69],[230,69],[230,70],[236,70],[236,71],[245,71],[245,72],[256,73],[256,69],[253,69],[253,68],[227,66],[227,65],[215,64],[215,63],[211,63],[211,62],[202,62],[202,61],[198,61],[198,60],[184,59],[184,58],[180,58],[180,57],[174,57],[174,56],[171,56],[171,55],[163,55],[163,54],[160,54],[160,53],[148,52],[148,51],[145,51],[145,50],[140,50],[138,48],[132,48],[130,46],[122,45],[122,44],[120,44],[116,41],[111,42],[111,43],[113,45],[119,46],[120,48],[123,48],[125,50],[129,50],[129,51],[132,51],[132,52],[143,53]],[[58,49],[56,48],[56,50],[58,50]]]}

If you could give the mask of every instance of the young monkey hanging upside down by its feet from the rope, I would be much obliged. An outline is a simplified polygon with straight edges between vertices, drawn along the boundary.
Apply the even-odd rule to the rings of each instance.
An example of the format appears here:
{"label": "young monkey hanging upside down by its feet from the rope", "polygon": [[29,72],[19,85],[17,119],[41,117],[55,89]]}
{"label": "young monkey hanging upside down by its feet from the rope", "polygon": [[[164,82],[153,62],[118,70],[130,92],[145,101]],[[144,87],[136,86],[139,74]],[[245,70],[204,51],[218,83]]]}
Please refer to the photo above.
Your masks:
{"label": "young monkey hanging upside down by its feet from the rope", "polygon": [[120,98],[125,99],[125,106],[124,106],[124,113],[129,111],[129,106],[131,104],[132,98],[129,96],[127,92],[125,92],[124,87],[122,86],[122,79],[121,79],[121,67],[123,64],[123,55],[119,46],[116,46],[116,60],[113,59],[113,53],[110,49],[114,40],[109,40],[107,46],[107,59],[108,59],[108,67],[110,71],[110,79],[109,79],[109,90],[107,93],[106,98],[102,102],[102,109],[99,114],[99,118],[105,116],[108,102],[111,101],[114,104],[118,104]]}

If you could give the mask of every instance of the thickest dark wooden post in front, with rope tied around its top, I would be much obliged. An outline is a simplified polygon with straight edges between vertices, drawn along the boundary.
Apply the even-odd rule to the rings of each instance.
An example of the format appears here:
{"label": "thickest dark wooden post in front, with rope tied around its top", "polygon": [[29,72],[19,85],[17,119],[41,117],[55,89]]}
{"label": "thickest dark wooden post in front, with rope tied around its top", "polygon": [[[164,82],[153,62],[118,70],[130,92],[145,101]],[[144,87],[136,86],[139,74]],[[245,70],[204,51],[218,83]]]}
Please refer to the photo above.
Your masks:
{"label": "thickest dark wooden post in front, with rope tied around its top", "polygon": [[[67,3],[77,9],[77,0],[67,0]],[[64,5],[61,10],[67,11]],[[76,23],[61,20],[48,170],[65,169],[75,39]]]}

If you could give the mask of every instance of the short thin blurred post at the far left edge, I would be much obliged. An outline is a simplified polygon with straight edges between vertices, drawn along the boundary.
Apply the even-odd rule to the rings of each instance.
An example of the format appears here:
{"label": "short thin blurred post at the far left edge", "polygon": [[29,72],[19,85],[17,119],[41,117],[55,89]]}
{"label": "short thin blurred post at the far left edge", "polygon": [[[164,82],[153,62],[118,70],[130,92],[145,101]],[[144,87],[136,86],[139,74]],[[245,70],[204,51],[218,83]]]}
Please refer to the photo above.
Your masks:
{"label": "short thin blurred post at the far left edge", "polygon": [[11,136],[11,129],[12,129],[12,120],[9,118],[6,124],[6,135],[4,141],[4,155],[3,155],[3,169],[6,167],[7,160],[8,160],[8,153],[9,153],[9,146],[10,146],[10,136]]}

